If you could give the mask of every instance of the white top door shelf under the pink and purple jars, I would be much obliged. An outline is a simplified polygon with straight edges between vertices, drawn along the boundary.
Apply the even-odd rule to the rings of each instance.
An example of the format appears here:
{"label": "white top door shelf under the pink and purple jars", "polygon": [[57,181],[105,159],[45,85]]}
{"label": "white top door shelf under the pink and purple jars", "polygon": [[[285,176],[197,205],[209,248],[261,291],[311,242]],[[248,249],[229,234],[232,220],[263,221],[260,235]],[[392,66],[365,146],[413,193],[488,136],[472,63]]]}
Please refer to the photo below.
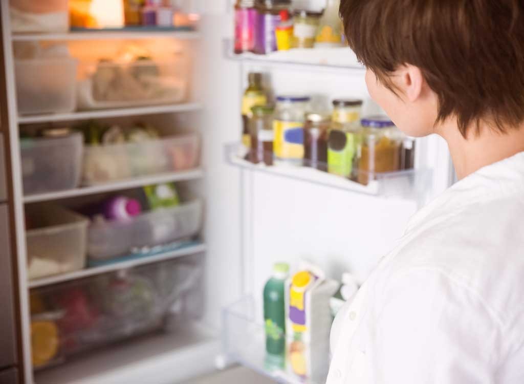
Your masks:
{"label": "white top door shelf under the pink and purple jars", "polygon": [[224,40],[225,57],[230,60],[245,61],[253,64],[272,66],[301,66],[323,71],[353,70],[364,74],[365,68],[357,61],[353,51],[348,47],[341,48],[298,48],[288,51],[276,51],[267,55],[256,55],[252,52],[234,53],[234,44],[230,39]]}

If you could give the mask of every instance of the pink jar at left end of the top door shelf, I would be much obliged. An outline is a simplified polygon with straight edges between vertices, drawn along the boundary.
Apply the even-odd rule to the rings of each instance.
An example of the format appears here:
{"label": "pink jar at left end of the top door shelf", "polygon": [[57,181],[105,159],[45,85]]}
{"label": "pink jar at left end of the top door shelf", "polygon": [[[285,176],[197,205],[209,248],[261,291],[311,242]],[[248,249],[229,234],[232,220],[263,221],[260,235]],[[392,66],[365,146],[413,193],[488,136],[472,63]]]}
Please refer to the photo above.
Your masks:
{"label": "pink jar at left end of the top door shelf", "polygon": [[237,0],[235,4],[235,54],[255,50],[255,0]]}

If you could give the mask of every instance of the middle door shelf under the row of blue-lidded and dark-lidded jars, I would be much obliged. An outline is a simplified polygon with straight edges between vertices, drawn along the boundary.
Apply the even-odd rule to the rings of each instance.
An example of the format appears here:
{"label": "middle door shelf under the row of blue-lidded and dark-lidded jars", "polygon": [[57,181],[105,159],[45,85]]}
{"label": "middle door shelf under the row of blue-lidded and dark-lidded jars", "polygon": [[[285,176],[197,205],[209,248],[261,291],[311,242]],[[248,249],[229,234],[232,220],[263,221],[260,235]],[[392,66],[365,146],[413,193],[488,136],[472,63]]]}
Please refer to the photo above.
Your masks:
{"label": "middle door shelf under the row of blue-lidded and dark-lidded jars", "polygon": [[367,185],[363,185],[344,177],[332,175],[310,167],[293,166],[289,164],[278,164],[274,166],[267,166],[263,163],[253,164],[245,160],[247,153],[247,148],[241,143],[225,145],[226,162],[230,165],[365,195],[422,201],[427,195],[431,185],[432,172],[430,169],[366,173],[365,178],[369,181]]}

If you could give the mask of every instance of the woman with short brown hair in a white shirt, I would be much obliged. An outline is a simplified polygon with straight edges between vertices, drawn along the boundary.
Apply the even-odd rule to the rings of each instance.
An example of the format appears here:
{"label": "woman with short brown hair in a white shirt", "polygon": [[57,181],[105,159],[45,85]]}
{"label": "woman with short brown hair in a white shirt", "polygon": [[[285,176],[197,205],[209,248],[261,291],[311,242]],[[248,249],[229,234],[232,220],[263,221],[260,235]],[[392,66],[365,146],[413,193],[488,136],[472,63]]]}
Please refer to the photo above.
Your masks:
{"label": "woman with short brown hair in a white shirt", "polygon": [[332,329],[328,384],[524,383],[524,2],[341,0],[372,98],[460,181]]}

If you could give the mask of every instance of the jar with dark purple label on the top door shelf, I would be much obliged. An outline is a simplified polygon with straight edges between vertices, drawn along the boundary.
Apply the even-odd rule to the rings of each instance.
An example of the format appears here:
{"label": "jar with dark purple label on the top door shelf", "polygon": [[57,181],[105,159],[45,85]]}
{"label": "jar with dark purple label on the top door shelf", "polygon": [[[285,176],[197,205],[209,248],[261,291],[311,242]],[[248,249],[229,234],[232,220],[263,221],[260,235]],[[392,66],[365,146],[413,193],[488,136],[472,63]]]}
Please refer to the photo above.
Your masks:
{"label": "jar with dark purple label on the top door shelf", "polygon": [[256,0],[255,53],[269,54],[277,50],[275,31],[280,24],[280,11],[291,7],[290,0]]}

